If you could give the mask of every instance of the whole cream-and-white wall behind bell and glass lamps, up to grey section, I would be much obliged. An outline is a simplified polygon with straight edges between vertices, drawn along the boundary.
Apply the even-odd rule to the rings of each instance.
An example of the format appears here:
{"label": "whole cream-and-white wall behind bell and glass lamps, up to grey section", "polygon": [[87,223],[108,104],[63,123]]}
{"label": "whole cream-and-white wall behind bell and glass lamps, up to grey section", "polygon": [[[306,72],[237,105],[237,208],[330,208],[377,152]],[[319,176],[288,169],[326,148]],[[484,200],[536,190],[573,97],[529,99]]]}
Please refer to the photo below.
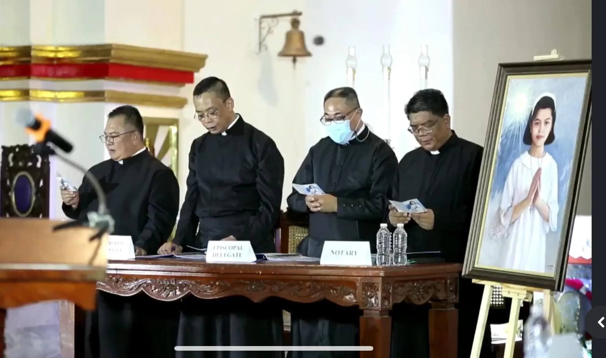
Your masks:
{"label": "whole cream-and-white wall behind bell and glass lamps, up to grey section", "polygon": [[[238,11],[234,11],[234,8]],[[290,29],[289,18],[281,19],[267,38],[268,51],[256,53],[260,15],[304,13],[305,32],[311,58],[301,59],[296,68],[290,59],[276,54]],[[418,58],[421,45],[430,50],[430,86],[442,89],[451,102],[453,95],[451,1],[424,2],[383,0],[283,0],[244,2],[226,0],[184,0],[184,50],[208,54],[207,65],[196,76],[225,79],[236,102],[236,110],[249,123],[270,135],[285,158],[284,195],[310,146],[325,137],[319,123],[322,98],[334,88],[347,86],[345,58],[349,46],[358,57],[356,90],[364,120],[375,132],[387,137],[383,111],[381,75],[382,45],[391,46],[391,137],[399,156],[416,146],[406,132],[404,104],[419,89]],[[422,16],[431,14],[431,28]],[[204,14],[212,14],[204,15]],[[402,19],[407,19],[402,21]],[[314,46],[312,39],[324,36],[325,44]],[[184,95],[190,95],[191,86]],[[193,107],[186,107],[181,122],[179,166],[187,167],[191,141],[204,130],[193,120]],[[186,172],[179,179],[185,182]]]}

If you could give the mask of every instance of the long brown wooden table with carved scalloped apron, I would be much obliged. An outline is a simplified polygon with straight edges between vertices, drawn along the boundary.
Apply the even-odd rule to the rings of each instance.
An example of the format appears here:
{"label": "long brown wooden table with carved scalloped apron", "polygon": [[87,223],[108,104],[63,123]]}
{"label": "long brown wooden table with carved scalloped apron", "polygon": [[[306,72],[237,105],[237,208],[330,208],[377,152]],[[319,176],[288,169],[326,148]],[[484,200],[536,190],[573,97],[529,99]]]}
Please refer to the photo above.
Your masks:
{"label": "long brown wooden table with carved scalloped apron", "polygon": [[458,283],[461,265],[338,267],[310,263],[258,262],[211,264],[154,258],[110,261],[97,289],[119,296],[144,292],[161,301],[192,294],[199,299],[245,296],[254,302],[281,297],[299,303],[330,300],[359,306],[360,344],[373,346],[362,358],[389,358],[391,317],[395,303],[430,302],[430,356],[456,358]]}

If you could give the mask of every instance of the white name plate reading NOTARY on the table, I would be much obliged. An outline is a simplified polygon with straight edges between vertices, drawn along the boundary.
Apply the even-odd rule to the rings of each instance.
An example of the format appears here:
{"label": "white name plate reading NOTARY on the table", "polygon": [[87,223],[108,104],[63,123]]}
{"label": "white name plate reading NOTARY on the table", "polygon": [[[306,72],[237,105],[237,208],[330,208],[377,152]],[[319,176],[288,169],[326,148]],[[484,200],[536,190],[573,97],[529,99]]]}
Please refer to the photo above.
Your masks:
{"label": "white name plate reading NOTARY on the table", "polygon": [[324,241],[320,265],[372,266],[370,242]]}

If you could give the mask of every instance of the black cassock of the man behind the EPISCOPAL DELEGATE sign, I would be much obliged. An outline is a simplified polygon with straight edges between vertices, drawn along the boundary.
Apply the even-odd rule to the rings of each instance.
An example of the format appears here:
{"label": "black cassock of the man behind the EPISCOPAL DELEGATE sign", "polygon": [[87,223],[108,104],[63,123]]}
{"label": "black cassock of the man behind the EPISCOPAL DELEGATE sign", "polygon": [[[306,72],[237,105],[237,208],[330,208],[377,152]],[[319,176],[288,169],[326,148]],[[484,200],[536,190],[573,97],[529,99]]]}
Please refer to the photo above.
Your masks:
{"label": "black cassock of the man behind the EPISCOPAL DELEGATE sign", "polygon": [[[175,242],[206,248],[233,235],[250,241],[256,253],[275,252],[284,158],[270,137],[239,115],[225,135],[205,133],[191,144],[187,194]],[[196,234],[196,230],[198,231]],[[187,248],[186,248],[187,249]],[[226,264],[228,265],[228,264]],[[281,345],[282,308],[276,300],[245,297],[181,303],[179,345]],[[280,352],[179,352],[178,358],[279,357]]]}

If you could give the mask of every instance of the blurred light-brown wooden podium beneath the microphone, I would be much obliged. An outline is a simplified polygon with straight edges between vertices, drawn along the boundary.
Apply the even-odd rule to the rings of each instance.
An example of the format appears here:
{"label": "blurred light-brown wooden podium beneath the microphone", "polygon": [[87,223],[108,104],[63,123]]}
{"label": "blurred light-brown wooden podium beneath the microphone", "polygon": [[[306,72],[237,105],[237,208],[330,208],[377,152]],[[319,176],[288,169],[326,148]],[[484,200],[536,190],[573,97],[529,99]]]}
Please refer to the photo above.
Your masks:
{"label": "blurred light-brown wooden podium beneath the microphone", "polygon": [[95,309],[96,282],[105,279],[107,235],[95,230],[53,232],[62,221],[0,218],[0,357],[4,357],[6,309],[50,300],[68,300]]}

